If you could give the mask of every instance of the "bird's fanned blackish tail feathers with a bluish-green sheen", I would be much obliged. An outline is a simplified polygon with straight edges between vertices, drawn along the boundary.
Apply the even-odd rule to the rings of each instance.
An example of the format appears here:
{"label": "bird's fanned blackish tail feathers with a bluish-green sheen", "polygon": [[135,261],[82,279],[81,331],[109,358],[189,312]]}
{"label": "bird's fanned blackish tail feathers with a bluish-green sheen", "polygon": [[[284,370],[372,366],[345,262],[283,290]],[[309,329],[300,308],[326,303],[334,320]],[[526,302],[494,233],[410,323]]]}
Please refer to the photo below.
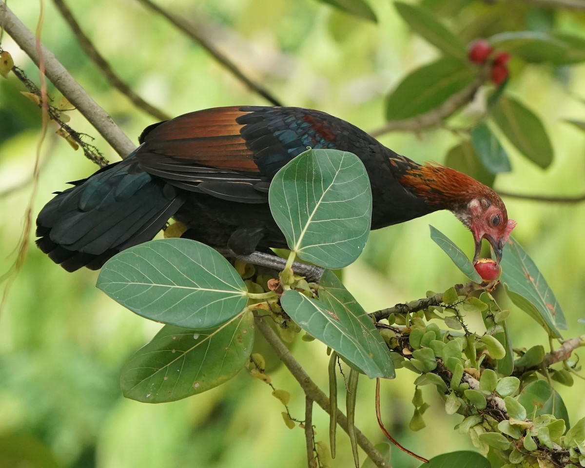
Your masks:
{"label": "bird's fanned blackish tail feathers with a bluish-green sheen", "polygon": [[183,204],[177,190],[136,170],[130,156],[54,197],[37,218],[39,249],[67,271],[92,270],[150,240]]}

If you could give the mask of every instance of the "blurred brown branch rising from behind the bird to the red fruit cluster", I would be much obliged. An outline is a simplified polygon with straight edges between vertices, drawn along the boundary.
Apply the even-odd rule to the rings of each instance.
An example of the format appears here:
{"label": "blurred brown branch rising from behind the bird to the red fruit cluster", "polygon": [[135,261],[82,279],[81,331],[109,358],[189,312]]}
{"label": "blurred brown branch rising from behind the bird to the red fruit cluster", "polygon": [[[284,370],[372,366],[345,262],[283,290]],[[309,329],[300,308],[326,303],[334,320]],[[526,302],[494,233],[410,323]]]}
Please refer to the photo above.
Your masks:
{"label": "blurred brown branch rising from behind the bird to the red fruit cluster", "polygon": [[475,96],[477,90],[481,85],[486,82],[490,75],[491,63],[486,63],[479,69],[476,79],[464,90],[456,92],[443,104],[438,106],[432,111],[417,115],[415,117],[404,119],[400,121],[389,121],[386,122],[381,128],[370,132],[371,136],[380,136],[384,133],[403,131],[403,132],[418,132],[419,130],[441,125],[443,120],[450,116],[453,112],[457,111],[461,106],[471,102]]}

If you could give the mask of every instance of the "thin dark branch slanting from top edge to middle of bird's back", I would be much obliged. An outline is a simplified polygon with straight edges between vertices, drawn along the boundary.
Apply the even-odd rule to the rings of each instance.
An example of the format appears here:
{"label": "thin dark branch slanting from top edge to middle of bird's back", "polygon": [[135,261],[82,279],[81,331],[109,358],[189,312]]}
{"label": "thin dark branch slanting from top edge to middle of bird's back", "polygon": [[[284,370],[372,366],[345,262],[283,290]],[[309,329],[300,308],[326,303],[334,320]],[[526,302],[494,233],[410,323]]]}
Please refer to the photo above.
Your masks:
{"label": "thin dark branch slanting from top edge to middle of bird's back", "polygon": [[207,50],[209,54],[211,54],[211,56],[214,57],[215,60],[221,63],[223,67],[227,68],[230,71],[230,73],[232,73],[236,78],[238,78],[238,80],[242,81],[248,88],[250,88],[250,90],[256,92],[261,97],[263,97],[264,99],[266,99],[268,102],[275,106],[283,105],[281,104],[280,101],[278,101],[277,98],[271,95],[270,92],[266,90],[266,88],[264,88],[261,84],[257,83],[256,81],[253,81],[252,78],[247,77],[246,74],[243,73],[243,71],[235,63],[233,63],[233,61],[228,59],[228,57],[226,57],[225,54],[219,51],[219,49],[215,47],[214,43],[212,43],[207,37],[205,37],[204,35],[201,34],[201,32],[199,32],[199,29],[201,28],[198,27],[198,25],[194,25],[188,22],[187,20],[180,18],[174,13],[171,13],[166,9],[162,8],[161,6],[154,4],[150,0],[137,1],[140,2],[142,5],[146,6],[147,8],[156,11],[161,16],[164,16],[164,18],[170,21],[174,26],[183,31],[186,35],[190,36],[193,40],[195,40],[195,42],[199,43],[199,45],[203,47],[205,50]]}

